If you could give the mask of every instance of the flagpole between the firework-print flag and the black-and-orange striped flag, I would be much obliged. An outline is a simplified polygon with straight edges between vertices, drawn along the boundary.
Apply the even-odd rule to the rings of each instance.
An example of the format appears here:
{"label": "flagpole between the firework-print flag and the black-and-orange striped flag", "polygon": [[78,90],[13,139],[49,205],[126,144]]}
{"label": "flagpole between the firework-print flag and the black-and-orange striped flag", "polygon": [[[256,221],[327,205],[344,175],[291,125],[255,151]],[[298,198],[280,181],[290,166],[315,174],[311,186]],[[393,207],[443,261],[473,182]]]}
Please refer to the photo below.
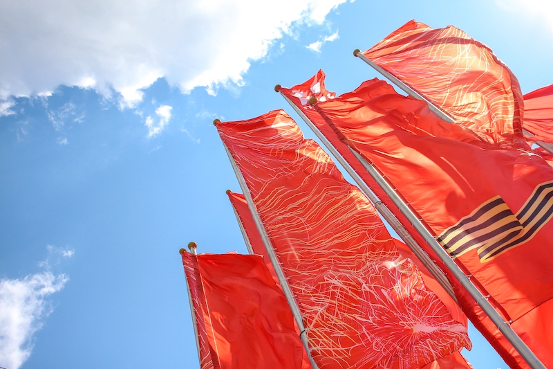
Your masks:
{"label": "flagpole between the firework-print flag and the black-and-orange striped flag", "polygon": [[359,174],[351,168],[351,165],[344,159],[343,156],[338,152],[338,150],[335,149],[334,146],[332,146],[332,143],[328,141],[328,138],[324,136],[324,134],[319,131],[316,125],[314,125],[309,118],[303,114],[303,111],[297,107],[288,96],[285,96],[281,91],[279,91],[281,96],[284,98],[284,100],[288,101],[288,104],[296,111],[296,113],[301,117],[301,119],[308,125],[308,127],[315,133],[315,136],[321,140],[323,145],[325,145],[326,149],[332,154],[332,156],[335,157],[335,159],[338,161],[338,163],[341,164],[342,167],[344,167],[344,170],[353,178],[353,181],[357,183],[357,186],[364,192],[366,197],[368,197],[369,200],[373,203],[375,206],[375,209],[386,219],[386,222],[390,224],[390,226],[393,228],[393,230],[399,235],[402,240],[405,242],[407,246],[409,246],[409,249],[413,251],[415,256],[422,262],[424,267],[427,267],[429,272],[432,274],[432,276],[440,283],[440,285],[445,289],[447,294],[453,298],[453,300],[457,303],[457,296],[455,296],[455,292],[453,292],[453,287],[451,287],[451,284],[449,283],[449,280],[447,280],[447,277],[444,276],[444,273],[440,270],[440,268],[434,264],[434,262],[431,260],[430,256],[422,249],[422,247],[419,246],[419,244],[413,239],[413,237],[409,234],[409,232],[405,229],[405,227],[401,224],[399,220],[393,215],[390,209],[386,205],[380,201],[380,199],[375,195],[373,190],[371,190],[370,187],[366,185],[366,183],[363,181],[361,177],[359,177]]}

